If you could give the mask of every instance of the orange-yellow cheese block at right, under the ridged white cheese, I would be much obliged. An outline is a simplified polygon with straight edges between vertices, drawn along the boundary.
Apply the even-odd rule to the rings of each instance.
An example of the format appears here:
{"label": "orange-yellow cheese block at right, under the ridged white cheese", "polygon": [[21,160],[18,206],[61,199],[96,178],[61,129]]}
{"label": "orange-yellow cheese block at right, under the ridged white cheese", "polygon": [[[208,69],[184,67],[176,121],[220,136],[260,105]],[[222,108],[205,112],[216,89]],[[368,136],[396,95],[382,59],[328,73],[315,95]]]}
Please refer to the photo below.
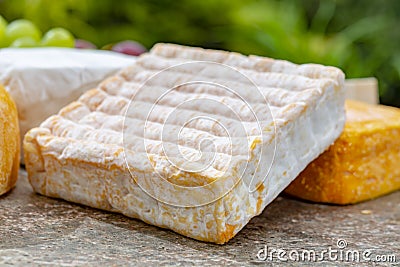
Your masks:
{"label": "orange-yellow cheese block at right, under the ridged white cheese", "polygon": [[352,204],[400,189],[400,109],[347,100],[346,112],[342,135],[287,193]]}

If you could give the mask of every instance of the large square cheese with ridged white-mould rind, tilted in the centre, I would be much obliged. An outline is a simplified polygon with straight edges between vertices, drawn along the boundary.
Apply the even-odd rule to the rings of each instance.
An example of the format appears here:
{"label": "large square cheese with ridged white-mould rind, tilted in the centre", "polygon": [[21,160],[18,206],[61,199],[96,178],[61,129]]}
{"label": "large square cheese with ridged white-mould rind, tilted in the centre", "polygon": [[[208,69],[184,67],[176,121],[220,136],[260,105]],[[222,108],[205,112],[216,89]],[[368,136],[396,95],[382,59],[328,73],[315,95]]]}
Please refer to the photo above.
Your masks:
{"label": "large square cheese with ridged white-mould rind, tilted in the centre", "polygon": [[34,190],[223,244],[340,135],[344,74],[157,44],[28,132]]}

